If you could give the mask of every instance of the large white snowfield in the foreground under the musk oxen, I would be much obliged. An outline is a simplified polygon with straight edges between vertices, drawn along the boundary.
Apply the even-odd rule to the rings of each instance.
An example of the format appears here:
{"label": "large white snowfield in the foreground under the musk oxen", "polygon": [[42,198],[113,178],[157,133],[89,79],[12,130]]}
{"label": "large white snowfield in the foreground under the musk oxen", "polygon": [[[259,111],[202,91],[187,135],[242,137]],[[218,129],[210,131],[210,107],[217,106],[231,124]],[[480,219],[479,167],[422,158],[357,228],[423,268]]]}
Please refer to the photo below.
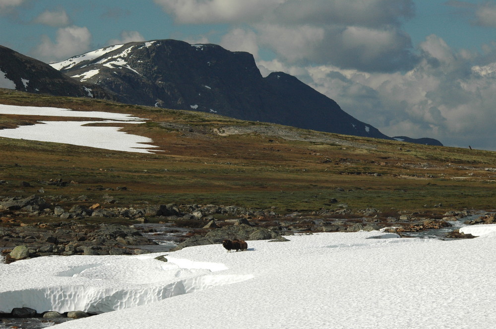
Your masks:
{"label": "large white snowfield in the foreground under the musk oxen", "polygon": [[153,253],[0,263],[0,312],[99,313],[58,329],[494,328],[496,226],[465,229],[480,236],[327,232],[247,241],[242,252],[188,247],[167,262]]}

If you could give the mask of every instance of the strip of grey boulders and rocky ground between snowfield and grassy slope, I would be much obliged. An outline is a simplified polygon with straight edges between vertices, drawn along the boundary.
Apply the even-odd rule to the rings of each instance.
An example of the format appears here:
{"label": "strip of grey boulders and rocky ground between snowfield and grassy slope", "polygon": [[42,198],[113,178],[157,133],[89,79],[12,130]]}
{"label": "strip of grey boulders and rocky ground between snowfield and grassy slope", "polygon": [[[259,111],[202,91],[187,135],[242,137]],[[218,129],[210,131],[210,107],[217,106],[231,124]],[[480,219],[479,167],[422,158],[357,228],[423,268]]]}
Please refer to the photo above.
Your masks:
{"label": "strip of grey boulders and rocky ground between snowfield and grassy slope", "polygon": [[[112,199],[111,197],[108,197]],[[284,241],[284,235],[313,232],[355,232],[383,229],[400,235],[426,229],[450,226],[449,221],[463,218],[469,212],[444,214],[383,214],[374,208],[357,212],[346,205],[334,210],[311,213],[277,214],[274,209],[247,209],[217,205],[145,205],[143,208],[115,207],[83,203],[62,207],[61,196],[42,198],[1,197],[0,249],[5,262],[49,255],[126,255],[148,253],[143,246],[156,244],[143,233],[152,228],[142,225],[108,223],[162,222],[174,227],[188,227],[176,249],[187,246],[221,243],[223,239]],[[84,200],[84,196],[78,199]],[[98,220],[96,220],[98,219]],[[103,219],[103,222],[102,222]],[[468,222],[492,223],[494,216]],[[454,230],[447,237],[467,237]]]}

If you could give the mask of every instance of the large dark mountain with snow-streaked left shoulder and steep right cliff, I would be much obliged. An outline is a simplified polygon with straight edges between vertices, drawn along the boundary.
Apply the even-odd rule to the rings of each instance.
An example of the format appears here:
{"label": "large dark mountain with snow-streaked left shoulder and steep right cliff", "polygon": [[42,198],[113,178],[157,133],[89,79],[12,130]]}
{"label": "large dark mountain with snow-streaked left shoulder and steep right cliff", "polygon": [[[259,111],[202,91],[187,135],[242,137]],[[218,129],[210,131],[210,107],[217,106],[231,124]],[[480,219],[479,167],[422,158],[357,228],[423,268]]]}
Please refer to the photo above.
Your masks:
{"label": "large dark mountain with snow-streaked left shoulder and steep right cliff", "polygon": [[391,139],[294,76],[274,72],[262,77],[253,55],[217,45],[131,42],[51,65],[114,92],[123,103]]}

